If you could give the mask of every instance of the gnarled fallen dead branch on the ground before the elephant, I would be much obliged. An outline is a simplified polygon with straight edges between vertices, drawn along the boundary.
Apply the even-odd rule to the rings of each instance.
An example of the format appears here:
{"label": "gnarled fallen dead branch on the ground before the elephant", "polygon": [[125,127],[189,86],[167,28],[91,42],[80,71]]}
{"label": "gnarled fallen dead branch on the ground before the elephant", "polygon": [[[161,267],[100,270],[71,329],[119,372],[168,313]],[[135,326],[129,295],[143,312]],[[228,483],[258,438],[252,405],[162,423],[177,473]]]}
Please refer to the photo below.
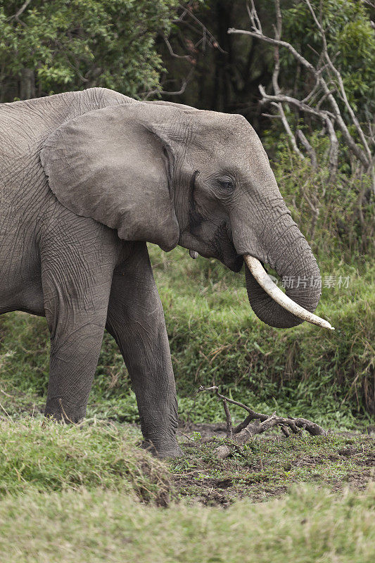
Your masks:
{"label": "gnarled fallen dead branch on the ground before the elephant", "polygon": [[[224,460],[231,454],[233,448],[239,445],[244,445],[250,441],[255,434],[262,434],[274,426],[280,426],[281,432],[284,436],[288,437],[293,434],[301,434],[303,430],[307,431],[312,436],[326,436],[326,431],[311,420],[305,418],[292,418],[292,417],[278,417],[275,412],[271,416],[263,415],[261,412],[255,412],[247,405],[233,400],[229,397],[222,395],[217,386],[198,388],[198,393],[202,391],[213,391],[217,398],[222,400],[225,417],[227,419],[227,438],[232,441],[232,444],[223,444],[217,448],[217,457]],[[243,420],[235,429],[232,427],[231,414],[229,412],[228,403],[243,408],[248,412],[246,419]],[[253,422],[254,421],[254,422]]]}

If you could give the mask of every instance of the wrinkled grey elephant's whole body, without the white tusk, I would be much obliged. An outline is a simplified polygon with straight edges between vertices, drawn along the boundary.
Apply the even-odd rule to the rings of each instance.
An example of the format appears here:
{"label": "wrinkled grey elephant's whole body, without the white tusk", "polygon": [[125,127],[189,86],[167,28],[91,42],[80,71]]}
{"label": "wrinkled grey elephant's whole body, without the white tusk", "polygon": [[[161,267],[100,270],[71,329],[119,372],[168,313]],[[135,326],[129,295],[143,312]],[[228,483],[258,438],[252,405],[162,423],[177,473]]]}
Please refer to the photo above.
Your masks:
{"label": "wrinkled grey elephant's whole body, without the white tusk", "polygon": [[[0,313],[45,315],[46,415],[84,417],[104,328],[132,378],[146,444],[176,456],[177,400],[146,241],[238,272],[319,277],[246,120],[94,88],[0,106]],[[247,270],[247,269],[246,269]],[[300,321],[246,271],[264,322]],[[319,289],[288,291],[314,310]]]}

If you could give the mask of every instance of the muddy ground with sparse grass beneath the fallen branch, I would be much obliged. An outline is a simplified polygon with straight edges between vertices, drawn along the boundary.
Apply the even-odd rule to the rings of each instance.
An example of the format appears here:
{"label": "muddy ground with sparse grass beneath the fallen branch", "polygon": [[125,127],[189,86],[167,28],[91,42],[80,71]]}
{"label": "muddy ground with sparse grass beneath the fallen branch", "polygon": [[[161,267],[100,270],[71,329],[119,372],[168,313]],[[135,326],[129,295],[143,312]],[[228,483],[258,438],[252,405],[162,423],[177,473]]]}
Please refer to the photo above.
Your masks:
{"label": "muddy ground with sparse grass beneath the fallen branch", "polygon": [[314,483],[341,491],[362,489],[374,480],[374,436],[255,436],[227,460],[217,460],[225,424],[185,424],[179,428],[184,457],[171,462],[174,484],[182,497],[205,505],[227,506],[239,498],[262,502],[278,498],[295,483]]}

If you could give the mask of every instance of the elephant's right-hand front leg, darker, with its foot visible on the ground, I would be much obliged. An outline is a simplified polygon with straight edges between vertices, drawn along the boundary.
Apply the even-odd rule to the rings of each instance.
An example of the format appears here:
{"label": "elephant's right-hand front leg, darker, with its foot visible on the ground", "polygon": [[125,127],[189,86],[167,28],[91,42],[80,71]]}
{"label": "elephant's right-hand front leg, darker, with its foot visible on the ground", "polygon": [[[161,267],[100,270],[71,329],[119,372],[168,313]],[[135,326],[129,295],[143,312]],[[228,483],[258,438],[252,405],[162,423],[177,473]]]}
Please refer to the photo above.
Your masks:
{"label": "elephant's right-hand front leg, darker, with its foot visible on the ground", "polygon": [[146,243],[115,270],[106,329],[115,338],[132,379],[144,447],[177,457],[177,397],[164,312]]}

